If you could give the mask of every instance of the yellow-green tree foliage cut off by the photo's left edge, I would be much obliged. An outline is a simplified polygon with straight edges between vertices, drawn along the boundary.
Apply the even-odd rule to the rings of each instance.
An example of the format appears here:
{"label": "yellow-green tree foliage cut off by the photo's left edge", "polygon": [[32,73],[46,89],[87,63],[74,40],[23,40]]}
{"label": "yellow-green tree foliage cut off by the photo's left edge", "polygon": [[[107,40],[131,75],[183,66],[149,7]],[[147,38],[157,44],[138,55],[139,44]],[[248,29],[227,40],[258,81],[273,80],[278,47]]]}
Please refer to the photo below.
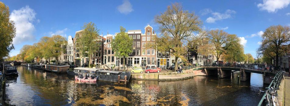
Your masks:
{"label": "yellow-green tree foliage cut off by the photo's left edge", "polygon": [[16,36],[16,28],[9,16],[9,7],[0,2],[0,58],[8,56],[9,52],[14,49],[12,42]]}

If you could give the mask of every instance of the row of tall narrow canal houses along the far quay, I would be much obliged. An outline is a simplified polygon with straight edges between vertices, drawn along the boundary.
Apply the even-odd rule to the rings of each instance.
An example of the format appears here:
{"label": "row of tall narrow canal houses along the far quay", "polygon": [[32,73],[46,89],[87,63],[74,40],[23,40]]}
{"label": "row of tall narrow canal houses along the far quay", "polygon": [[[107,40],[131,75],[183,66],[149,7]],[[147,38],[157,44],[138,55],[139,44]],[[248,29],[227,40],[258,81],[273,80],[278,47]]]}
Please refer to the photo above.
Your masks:
{"label": "row of tall narrow canal houses along the far quay", "polygon": [[[133,50],[129,57],[125,58],[125,65],[132,67],[170,67],[176,61],[175,56],[170,52],[159,52],[155,48],[145,48],[146,44],[155,42],[156,33],[150,25],[147,25],[144,29],[144,33],[142,33],[142,30],[128,30],[129,37],[133,38]],[[78,40],[78,36],[81,35],[82,30],[76,31],[74,38],[68,36],[67,51],[58,58],[60,63],[68,62],[78,66],[89,64],[88,56],[80,55],[80,51],[76,48],[75,43]],[[123,66],[123,59],[116,57],[112,50],[111,41],[115,35],[100,36],[101,47],[94,53],[91,64],[95,64],[99,68],[118,68],[118,66]],[[193,51],[189,52],[186,58],[193,65],[211,64],[216,60],[213,55],[205,56]],[[179,62],[181,59],[177,61]]]}

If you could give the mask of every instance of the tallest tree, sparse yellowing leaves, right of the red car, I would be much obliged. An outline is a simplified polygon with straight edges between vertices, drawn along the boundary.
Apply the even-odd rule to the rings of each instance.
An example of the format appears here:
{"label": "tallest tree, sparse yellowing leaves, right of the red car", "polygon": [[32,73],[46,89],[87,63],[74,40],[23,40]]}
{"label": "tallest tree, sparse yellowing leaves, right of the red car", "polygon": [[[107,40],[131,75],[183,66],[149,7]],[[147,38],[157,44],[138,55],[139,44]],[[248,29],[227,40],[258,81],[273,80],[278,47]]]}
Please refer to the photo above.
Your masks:
{"label": "tallest tree, sparse yellowing leaves, right of the red car", "polygon": [[[174,3],[167,7],[167,10],[160,15],[155,16],[155,22],[159,24],[161,37],[156,38],[158,51],[164,52],[170,50],[175,56],[175,62],[187,53],[186,46],[196,33],[201,31],[202,22],[194,14],[183,10],[182,6]],[[177,69],[178,64],[175,64]]]}

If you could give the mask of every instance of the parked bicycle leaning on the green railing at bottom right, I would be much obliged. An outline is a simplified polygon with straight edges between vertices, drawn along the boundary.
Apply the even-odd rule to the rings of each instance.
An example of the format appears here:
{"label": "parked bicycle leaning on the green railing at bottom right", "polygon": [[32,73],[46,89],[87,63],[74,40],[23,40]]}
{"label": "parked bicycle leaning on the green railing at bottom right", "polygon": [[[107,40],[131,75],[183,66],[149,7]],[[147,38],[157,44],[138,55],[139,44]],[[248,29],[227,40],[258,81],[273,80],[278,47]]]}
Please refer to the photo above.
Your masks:
{"label": "parked bicycle leaning on the green railing at bottom right", "polygon": [[267,106],[279,106],[278,103],[278,94],[277,94],[277,90],[279,88],[266,88],[268,90],[266,91],[262,91],[260,90],[260,92],[266,92],[266,102],[267,102]]}

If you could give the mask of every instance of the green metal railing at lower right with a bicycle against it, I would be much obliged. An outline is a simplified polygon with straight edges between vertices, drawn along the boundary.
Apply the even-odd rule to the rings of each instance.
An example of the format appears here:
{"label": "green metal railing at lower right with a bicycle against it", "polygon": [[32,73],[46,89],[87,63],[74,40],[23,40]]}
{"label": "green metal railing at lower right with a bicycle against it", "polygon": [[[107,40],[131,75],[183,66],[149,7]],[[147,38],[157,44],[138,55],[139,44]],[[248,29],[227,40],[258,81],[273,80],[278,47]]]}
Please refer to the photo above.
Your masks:
{"label": "green metal railing at lower right with a bicycle against it", "polygon": [[[266,89],[269,89],[269,88],[271,88],[271,87],[273,87],[273,88],[278,88],[279,85],[280,85],[280,83],[281,83],[281,80],[283,79],[283,75],[284,75],[284,74],[285,74],[285,71],[279,71],[279,72],[275,75],[275,77],[272,78],[272,81],[271,81],[270,85],[269,85],[268,87],[266,87]],[[258,106],[261,106],[263,103],[266,102],[266,94],[268,94],[268,97],[271,97],[271,95],[269,95],[269,94],[270,94],[269,92],[270,92],[270,91],[268,91],[268,93],[267,93],[267,92],[264,93],[264,95],[263,95],[263,97],[261,98],[261,100],[260,100]],[[277,94],[277,95],[278,95],[278,94]]]}

